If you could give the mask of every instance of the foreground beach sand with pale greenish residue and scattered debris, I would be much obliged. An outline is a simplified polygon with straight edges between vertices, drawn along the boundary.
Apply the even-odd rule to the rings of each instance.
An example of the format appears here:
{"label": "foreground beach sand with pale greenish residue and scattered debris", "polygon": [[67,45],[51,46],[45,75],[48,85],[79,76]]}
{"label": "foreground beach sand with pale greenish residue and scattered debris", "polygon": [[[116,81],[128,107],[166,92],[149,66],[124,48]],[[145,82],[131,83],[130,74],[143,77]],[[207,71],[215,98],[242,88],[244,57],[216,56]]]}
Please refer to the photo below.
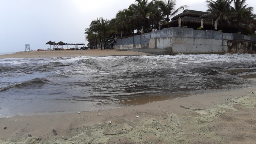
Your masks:
{"label": "foreground beach sand with pale greenish residue and scattered debris", "polygon": [[1,118],[0,143],[252,144],[256,95],[251,92],[256,87],[114,110]]}

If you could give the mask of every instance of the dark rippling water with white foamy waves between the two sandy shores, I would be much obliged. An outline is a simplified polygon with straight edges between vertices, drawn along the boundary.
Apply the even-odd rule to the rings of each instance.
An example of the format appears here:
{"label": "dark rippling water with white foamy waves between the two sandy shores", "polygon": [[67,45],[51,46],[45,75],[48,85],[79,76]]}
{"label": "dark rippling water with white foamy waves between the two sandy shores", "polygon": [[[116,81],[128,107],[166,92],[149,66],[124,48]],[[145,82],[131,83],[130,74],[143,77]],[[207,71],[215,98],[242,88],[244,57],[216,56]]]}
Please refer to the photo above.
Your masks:
{"label": "dark rippling water with white foamy waves between the two sandy shores", "polygon": [[255,86],[256,55],[0,59],[0,117],[94,111]]}

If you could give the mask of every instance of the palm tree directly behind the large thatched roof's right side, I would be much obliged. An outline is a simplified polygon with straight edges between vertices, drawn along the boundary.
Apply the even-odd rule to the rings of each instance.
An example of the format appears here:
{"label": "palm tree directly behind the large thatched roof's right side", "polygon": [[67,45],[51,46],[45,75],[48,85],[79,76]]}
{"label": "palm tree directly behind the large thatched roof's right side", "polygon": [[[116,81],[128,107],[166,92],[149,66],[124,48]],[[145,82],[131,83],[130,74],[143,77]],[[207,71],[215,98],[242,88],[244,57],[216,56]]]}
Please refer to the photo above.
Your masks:
{"label": "palm tree directly behind the large thatched roof's right side", "polygon": [[209,12],[209,14],[204,14],[200,17],[212,17],[222,24],[229,23],[229,20],[231,20],[230,16],[235,15],[235,13],[231,12],[230,5],[232,0],[207,0],[205,2],[208,3],[206,6],[208,7],[207,12]]}

